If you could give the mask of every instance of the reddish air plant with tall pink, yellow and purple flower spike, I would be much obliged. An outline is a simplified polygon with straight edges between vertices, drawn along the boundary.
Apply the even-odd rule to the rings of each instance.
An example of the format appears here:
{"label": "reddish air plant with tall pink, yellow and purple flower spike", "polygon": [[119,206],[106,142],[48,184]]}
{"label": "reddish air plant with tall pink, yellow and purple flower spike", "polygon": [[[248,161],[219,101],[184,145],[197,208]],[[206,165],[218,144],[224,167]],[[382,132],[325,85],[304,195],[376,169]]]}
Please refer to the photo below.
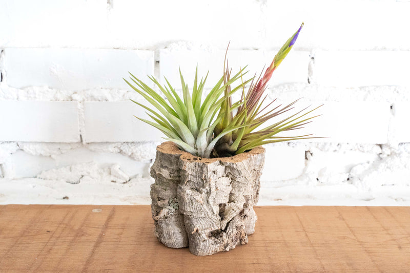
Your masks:
{"label": "reddish air plant with tall pink, yellow and purple flower spike", "polygon": [[[278,53],[273,58],[271,65],[267,68],[263,76],[259,77],[256,80],[256,83],[254,83],[254,81],[251,82],[251,86],[246,95],[244,94],[244,90],[242,90],[242,97],[240,101],[234,103],[234,105],[239,104],[239,107],[237,107],[235,115],[233,113],[234,109],[232,108],[231,97],[227,98],[226,101],[222,103],[221,110],[223,110],[224,116],[214,130],[215,135],[218,135],[220,132],[223,132],[228,125],[230,127],[238,127],[238,129],[224,135],[218,140],[218,143],[216,144],[214,149],[213,156],[232,156],[234,154],[240,154],[245,151],[251,150],[256,146],[262,144],[314,138],[309,137],[311,135],[279,137],[277,136],[277,134],[283,131],[290,131],[302,128],[304,124],[311,122],[309,120],[311,120],[314,117],[317,117],[314,116],[304,118],[306,115],[310,114],[317,108],[306,113],[302,113],[306,110],[303,109],[302,111],[299,111],[294,115],[283,118],[275,124],[271,124],[261,130],[256,130],[265,121],[268,121],[273,117],[277,117],[293,109],[292,106],[294,103],[296,103],[296,101],[294,101],[285,107],[279,105],[269,110],[267,113],[262,114],[262,112],[264,110],[267,110],[268,107],[270,107],[276,99],[269,103],[268,106],[262,109],[262,103],[267,96],[265,96],[262,99],[262,101],[260,101],[260,99],[264,91],[267,89],[268,81],[271,79],[273,72],[280,65],[280,63],[286,57],[286,55],[288,55],[293,45],[295,44],[295,41],[302,27],[303,23],[298,29],[298,31],[296,31],[295,34],[293,34],[292,37],[290,37],[288,41],[286,41],[286,43],[278,51]],[[227,65],[227,67],[224,68],[224,82],[228,82],[230,80],[230,75],[231,71],[229,70]],[[227,95],[230,92],[230,86],[227,85],[225,88],[225,94]]]}

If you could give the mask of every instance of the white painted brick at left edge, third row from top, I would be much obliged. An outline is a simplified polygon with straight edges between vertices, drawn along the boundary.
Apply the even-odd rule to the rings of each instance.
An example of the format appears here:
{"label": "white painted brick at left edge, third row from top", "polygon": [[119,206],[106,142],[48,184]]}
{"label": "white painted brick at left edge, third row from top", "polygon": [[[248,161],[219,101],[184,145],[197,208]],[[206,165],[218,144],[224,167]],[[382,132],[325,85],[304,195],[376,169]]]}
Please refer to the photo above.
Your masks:
{"label": "white painted brick at left edge, third row from top", "polygon": [[0,101],[0,141],[78,142],[76,101]]}

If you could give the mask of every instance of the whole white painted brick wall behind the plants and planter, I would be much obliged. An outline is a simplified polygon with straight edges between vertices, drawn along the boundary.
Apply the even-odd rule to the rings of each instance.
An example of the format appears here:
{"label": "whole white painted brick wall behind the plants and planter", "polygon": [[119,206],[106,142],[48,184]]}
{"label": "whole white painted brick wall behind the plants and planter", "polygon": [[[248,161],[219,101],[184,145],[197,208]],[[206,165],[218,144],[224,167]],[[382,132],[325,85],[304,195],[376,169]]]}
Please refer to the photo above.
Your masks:
{"label": "whole white painted brick wall behind the plants and planter", "polygon": [[147,115],[128,99],[146,102],[122,77],[166,76],[180,89],[177,68],[191,85],[198,64],[210,88],[229,41],[230,67],[259,75],[304,22],[266,92],[303,97],[297,109],[324,103],[292,135],[331,138],[267,145],[260,203],[410,204],[409,10],[393,0],[4,0],[0,203],[149,203],[162,135],[133,117]]}

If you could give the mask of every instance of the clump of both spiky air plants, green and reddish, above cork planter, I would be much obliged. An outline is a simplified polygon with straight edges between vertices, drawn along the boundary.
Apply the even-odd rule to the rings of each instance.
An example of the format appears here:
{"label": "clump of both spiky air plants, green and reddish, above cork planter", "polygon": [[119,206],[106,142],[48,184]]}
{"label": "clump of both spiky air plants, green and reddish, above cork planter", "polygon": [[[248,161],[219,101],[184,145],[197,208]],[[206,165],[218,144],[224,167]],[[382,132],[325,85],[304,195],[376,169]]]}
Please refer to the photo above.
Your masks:
{"label": "clump of both spiky air plants, green and reddish, above cork planter", "polygon": [[[278,134],[301,129],[317,117],[307,115],[320,106],[310,111],[305,108],[286,117],[283,117],[283,114],[292,110],[297,100],[286,106],[280,104],[273,107],[275,99],[262,107],[267,98],[267,95],[263,96],[267,84],[273,72],[292,49],[302,27],[303,24],[286,41],[263,76],[259,78],[244,80],[247,74],[246,67],[233,75],[225,56],[221,78],[203,99],[208,74],[198,82],[198,69],[195,72],[192,92],[179,70],[182,97],[177,94],[167,78],[166,85],[162,86],[157,79],[149,76],[158,88],[158,91],[155,91],[130,73],[132,83],[124,80],[152,106],[148,107],[133,100],[147,110],[152,120],[137,118],[160,130],[167,136],[166,140],[175,142],[180,149],[204,158],[233,156],[267,143],[315,138],[311,135],[283,137]],[[245,86],[248,83],[250,86],[245,93]],[[238,91],[242,93],[241,98],[232,102],[232,95]],[[265,122],[274,117],[279,117],[279,121],[265,125]]]}

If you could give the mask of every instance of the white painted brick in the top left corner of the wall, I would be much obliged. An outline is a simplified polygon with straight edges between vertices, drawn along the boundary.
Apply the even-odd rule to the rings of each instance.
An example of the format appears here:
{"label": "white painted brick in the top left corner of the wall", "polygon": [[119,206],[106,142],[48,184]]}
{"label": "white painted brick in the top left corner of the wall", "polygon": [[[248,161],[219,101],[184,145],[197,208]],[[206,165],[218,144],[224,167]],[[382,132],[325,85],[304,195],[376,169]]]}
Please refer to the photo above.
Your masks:
{"label": "white painted brick in the top left corner of the wall", "polygon": [[107,40],[106,20],[106,1],[4,0],[0,46],[96,47]]}

